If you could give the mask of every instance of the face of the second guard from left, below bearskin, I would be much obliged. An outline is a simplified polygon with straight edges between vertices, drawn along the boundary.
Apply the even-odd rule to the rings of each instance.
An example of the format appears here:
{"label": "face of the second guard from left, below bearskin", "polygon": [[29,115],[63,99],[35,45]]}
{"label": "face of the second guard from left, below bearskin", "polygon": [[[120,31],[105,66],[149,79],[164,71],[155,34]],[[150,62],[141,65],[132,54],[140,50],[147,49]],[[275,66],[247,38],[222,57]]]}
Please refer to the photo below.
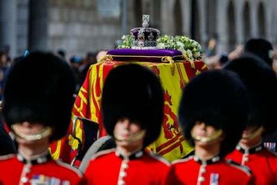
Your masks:
{"label": "face of the second guard from left, below bearskin", "polygon": [[114,127],[116,144],[120,146],[136,144],[143,146],[144,136],[145,132],[141,129],[141,125],[128,118],[119,119]]}

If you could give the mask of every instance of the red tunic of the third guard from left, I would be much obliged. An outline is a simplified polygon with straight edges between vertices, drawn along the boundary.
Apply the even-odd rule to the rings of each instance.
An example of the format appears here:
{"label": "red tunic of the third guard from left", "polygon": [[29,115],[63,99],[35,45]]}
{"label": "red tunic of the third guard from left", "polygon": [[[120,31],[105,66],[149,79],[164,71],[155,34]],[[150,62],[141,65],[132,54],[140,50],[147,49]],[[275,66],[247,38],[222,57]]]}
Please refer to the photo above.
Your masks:
{"label": "red tunic of the third guard from left", "polygon": [[166,184],[252,184],[248,170],[220,157],[202,161],[196,156],[173,162]]}

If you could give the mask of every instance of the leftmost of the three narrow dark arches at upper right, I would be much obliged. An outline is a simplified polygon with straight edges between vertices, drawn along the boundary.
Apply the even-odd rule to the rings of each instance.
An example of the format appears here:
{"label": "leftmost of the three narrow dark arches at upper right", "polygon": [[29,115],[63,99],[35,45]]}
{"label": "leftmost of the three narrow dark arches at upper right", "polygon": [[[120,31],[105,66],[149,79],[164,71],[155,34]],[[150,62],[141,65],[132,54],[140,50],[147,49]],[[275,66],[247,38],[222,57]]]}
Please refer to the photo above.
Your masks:
{"label": "leftmost of the three narrow dark arches at upper right", "polygon": [[228,34],[228,49],[229,51],[232,51],[235,49],[235,42],[236,39],[234,37],[235,35],[235,7],[233,1],[229,1],[229,5],[227,8],[227,34]]}

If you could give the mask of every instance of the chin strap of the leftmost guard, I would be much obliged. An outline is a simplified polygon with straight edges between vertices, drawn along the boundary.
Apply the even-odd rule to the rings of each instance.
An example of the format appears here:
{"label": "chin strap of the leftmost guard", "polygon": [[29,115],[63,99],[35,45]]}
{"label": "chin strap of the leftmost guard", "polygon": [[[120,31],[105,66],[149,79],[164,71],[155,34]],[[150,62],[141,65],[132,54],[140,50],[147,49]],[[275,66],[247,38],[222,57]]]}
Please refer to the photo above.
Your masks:
{"label": "chin strap of the leftmost guard", "polygon": [[15,133],[15,136],[19,137],[20,139],[24,139],[26,141],[37,141],[40,139],[44,139],[47,136],[52,134],[51,127],[44,127],[41,132],[36,134],[24,134],[19,132],[17,125],[12,125],[12,131]]}

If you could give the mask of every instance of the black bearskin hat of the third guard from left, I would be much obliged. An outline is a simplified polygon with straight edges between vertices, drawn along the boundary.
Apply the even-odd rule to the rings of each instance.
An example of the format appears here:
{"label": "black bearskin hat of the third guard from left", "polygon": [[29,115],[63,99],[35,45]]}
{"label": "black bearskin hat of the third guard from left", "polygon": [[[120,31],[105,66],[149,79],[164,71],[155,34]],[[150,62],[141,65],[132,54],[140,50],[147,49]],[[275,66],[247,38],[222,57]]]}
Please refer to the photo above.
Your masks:
{"label": "black bearskin hat of the third guard from left", "polygon": [[184,136],[194,144],[190,134],[197,121],[222,129],[224,140],[220,155],[235,149],[247,122],[249,102],[243,83],[231,71],[207,71],[184,88],[179,105],[179,123]]}

